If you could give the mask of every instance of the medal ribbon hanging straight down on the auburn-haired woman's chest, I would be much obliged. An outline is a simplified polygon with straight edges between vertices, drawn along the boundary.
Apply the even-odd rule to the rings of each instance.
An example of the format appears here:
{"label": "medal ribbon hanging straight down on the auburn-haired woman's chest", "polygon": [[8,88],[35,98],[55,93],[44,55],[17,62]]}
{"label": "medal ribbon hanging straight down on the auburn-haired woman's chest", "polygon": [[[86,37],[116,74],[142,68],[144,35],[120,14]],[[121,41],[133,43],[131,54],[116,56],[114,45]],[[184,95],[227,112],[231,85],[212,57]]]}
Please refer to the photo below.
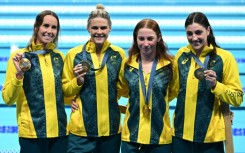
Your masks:
{"label": "medal ribbon hanging straight down on the auburn-haired woman's chest", "polygon": [[139,59],[140,83],[141,83],[141,88],[142,88],[142,91],[143,91],[145,103],[147,105],[149,104],[149,98],[150,98],[150,93],[151,93],[152,84],[153,84],[153,77],[154,77],[155,72],[156,72],[156,66],[157,66],[157,59],[155,58],[154,59],[154,63],[153,63],[152,68],[151,68],[150,80],[149,80],[149,83],[148,83],[148,90],[147,90],[147,94],[146,94],[146,87],[145,87],[145,81],[144,81],[144,75],[143,75],[143,69],[142,69],[142,62],[141,62],[141,59]]}

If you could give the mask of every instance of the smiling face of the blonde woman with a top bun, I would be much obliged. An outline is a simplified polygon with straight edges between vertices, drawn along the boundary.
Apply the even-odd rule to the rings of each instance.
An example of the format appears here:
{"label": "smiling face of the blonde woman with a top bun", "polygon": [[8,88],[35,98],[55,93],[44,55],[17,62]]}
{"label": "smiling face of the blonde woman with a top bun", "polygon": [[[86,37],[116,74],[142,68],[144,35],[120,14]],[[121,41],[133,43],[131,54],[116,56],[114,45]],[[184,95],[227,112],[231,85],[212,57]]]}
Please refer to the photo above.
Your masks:
{"label": "smiling face of the blonde woman with a top bun", "polygon": [[91,36],[91,41],[96,44],[96,46],[103,46],[104,42],[107,40],[111,28],[108,24],[107,19],[104,18],[94,18],[90,20],[88,25],[88,32]]}

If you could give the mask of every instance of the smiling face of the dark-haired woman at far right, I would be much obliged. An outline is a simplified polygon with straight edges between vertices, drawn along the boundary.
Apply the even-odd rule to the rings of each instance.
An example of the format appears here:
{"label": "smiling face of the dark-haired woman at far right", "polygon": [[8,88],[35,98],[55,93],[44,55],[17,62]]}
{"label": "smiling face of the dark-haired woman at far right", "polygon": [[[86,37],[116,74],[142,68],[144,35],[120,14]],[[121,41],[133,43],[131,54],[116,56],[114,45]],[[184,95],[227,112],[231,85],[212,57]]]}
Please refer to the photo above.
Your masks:
{"label": "smiling face of the dark-haired woman at far right", "polygon": [[197,53],[201,53],[203,48],[208,45],[208,35],[210,27],[207,29],[198,23],[192,23],[186,27],[186,36],[188,42]]}

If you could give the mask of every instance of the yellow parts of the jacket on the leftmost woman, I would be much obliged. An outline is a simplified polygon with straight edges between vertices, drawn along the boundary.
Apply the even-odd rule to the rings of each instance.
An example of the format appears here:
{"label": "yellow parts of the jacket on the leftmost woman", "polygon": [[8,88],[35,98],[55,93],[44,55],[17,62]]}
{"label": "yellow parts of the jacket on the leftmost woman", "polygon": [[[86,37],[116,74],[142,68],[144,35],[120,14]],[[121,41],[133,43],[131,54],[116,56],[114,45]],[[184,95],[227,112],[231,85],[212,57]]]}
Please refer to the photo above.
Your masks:
{"label": "yellow parts of the jacket on the leftmost woman", "polygon": [[[40,46],[40,45],[38,45]],[[32,51],[36,51],[38,49],[42,49],[40,47],[36,47],[33,45]],[[24,53],[30,52],[26,48],[19,49],[13,52],[10,55],[7,71],[6,71],[6,79],[4,82],[2,97],[7,105],[12,105],[16,102],[17,108],[17,122],[18,122],[18,130],[19,137],[25,138],[37,138],[37,133],[34,128],[31,110],[27,103],[27,98],[23,90],[23,80],[18,80],[16,78],[16,68],[14,66],[12,58],[16,55],[16,53]],[[64,54],[59,50],[54,49],[54,53],[59,54],[62,59],[64,59]],[[59,137],[68,134],[68,131],[65,133],[59,133],[58,130],[58,113],[57,113],[57,103],[55,97],[55,84],[54,84],[54,73],[53,66],[51,63],[50,54],[38,55],[38,60],[40,61],[41,73],[43,79],[43,93],[44,93],[44,105],[45,105],[45,114],[46,116],[40,116],[40,118],[45,117],[46,123],[42,123],[46,125],[46,136],[47,138],[51,137]],[[35,78],[32,78],[35,79]],[[58,104],[59,105],[59,104]],[[63,108],[64,109],[64,108]],[[65,114],[63,114],[65,115]],[[65,118],[66,120],[66,118]],[[63,124],[63,123],[62,123]],[[66,123],[64,123],[66,125]]]}

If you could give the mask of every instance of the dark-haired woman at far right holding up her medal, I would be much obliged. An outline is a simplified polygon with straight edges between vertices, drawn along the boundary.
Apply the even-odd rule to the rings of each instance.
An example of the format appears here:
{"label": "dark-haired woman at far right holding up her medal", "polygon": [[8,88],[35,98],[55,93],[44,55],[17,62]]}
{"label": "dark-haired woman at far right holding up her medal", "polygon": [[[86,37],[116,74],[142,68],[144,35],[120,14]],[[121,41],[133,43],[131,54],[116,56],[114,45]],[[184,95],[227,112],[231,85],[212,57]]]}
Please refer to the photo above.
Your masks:
{"label": "dark-haired woman at far right holding up her medal", "polygon": [[185,30],[189,44],[175,58],[173,153],[224,153],[224,108],[243,101],[237,62],[217,45],[203,13],[188,15]]}

